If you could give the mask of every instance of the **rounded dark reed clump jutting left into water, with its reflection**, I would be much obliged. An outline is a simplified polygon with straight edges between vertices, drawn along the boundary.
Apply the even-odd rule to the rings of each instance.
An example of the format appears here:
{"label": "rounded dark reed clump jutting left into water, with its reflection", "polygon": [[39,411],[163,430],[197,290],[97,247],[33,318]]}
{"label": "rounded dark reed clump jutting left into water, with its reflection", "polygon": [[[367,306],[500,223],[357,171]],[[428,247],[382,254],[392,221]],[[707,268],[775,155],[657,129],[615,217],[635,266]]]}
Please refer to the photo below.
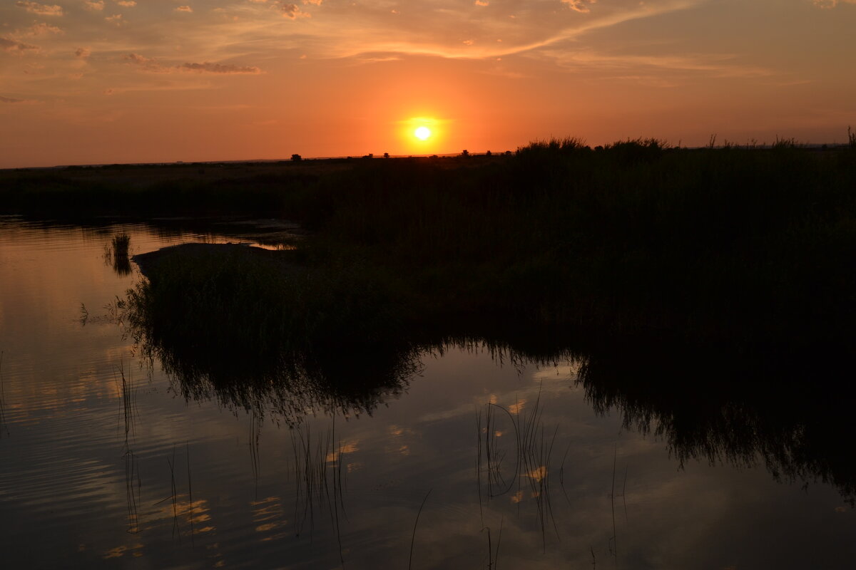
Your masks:
{"label": "rounded dark reed clump jutting left into water, with its reflection", "polygon": [[294,426],[316,411],[371,414],[407,389],[417,350],[395,334],[373,291],[353,275],[309,274],[265,250],[264,261],[247,260],[248,249],[159,261],[116,303],[140,354],[159,361],[184,397]]}

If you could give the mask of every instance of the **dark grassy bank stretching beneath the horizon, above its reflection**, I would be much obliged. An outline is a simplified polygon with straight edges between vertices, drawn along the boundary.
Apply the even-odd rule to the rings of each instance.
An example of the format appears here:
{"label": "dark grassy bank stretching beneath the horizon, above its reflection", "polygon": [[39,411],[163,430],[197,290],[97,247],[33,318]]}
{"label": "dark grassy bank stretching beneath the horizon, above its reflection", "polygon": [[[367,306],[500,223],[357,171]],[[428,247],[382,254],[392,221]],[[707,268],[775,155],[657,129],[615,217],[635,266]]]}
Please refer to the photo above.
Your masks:
{"label": "dark grassy bank stretching beneath the horizon, above its reflection", "polygon": [[[342,291],[339,276],[359,274],[383,291],[366,310],[411,326],[504,320],[743,350],[852,348],[856,149],[568,139],[514,156],[163,168],[181,175],[18,173],[3,203],[298,220],[312,232],[307,267],[329,268]],[[345,314],[340,297],[318,303]],[[342,330],[352,326],[362,334],[362,324]]]}

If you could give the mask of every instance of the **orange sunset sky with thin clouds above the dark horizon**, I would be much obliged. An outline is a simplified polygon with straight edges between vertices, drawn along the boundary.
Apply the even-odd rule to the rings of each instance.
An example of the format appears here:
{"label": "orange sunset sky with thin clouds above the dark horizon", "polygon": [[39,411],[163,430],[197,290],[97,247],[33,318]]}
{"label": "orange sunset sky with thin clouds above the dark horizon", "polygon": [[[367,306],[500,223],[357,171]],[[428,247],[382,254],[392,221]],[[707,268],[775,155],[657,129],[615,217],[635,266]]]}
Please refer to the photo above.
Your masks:
{"label": "orange sunset sky with thin clouds above the dark horizon", "polygon": [[0,167],[856,127],[856,0],[54,1],[0,3]]}

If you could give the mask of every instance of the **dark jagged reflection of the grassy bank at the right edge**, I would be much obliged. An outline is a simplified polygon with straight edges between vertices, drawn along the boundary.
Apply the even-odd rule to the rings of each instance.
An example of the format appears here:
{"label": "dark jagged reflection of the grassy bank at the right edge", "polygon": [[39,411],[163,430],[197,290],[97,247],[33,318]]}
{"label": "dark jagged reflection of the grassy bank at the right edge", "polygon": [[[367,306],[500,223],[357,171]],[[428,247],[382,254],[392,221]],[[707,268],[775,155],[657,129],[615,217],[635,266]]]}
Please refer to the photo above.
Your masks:
{"label": "dark jagged reflection of the grassy bank at the right edge", "polygon": [[[580,371],[600,413],[665,438],[673,455],[752,467],[776,479],[835,485],[856,497],[854,391],[845,356],[750,354],[649,347],[592,353]],[[699,366],[705,363],[705,366]]]}

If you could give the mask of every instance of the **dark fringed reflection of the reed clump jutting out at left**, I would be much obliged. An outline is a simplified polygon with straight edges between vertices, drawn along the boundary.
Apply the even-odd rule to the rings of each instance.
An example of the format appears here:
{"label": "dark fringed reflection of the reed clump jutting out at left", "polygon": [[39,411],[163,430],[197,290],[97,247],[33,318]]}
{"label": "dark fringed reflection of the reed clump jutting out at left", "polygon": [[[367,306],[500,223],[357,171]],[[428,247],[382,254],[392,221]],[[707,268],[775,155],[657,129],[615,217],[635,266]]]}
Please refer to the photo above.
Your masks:
{"label": "dark fringed reflection of the reed clump jutting out at left", "polygon": [[[264,276],[247,279],[270,283]],[[255,286],[243,292],[250,298],[236,296],[235,284],[221,281],[191,298],[185,287],[176,291],[146,281],[117,300],[110,313],[134,338],[140,356],[151,367],[163,367],[183,397],[214,399],[261,417],[273,414],[288,426],[317,412],[372,414],[406,391],[419,372],[412,344],[334,339],[324,328],[330,324],[313,332],[283,328],[270,322],[275,309],[259,306]]]}

